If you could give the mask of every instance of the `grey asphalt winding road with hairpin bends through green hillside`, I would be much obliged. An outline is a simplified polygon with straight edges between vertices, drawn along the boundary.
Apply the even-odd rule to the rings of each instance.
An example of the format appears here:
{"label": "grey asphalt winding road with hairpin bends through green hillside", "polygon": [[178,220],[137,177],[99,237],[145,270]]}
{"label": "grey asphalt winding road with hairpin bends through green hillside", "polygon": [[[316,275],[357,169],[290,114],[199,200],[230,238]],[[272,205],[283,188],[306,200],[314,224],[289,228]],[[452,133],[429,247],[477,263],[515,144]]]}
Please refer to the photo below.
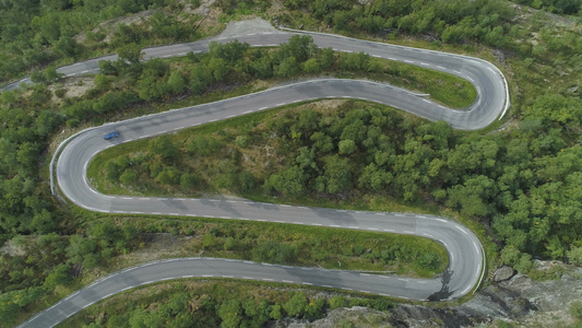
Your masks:
{"label": "grey asphalt winding road with hairpin bends through green hillside", "polygon": [[[295,33],[248,34],[213,39],[226,43],[236,38],[256,47],[277,46],[287,42]],[[55,154],[56,177],[61,192],[84,209],[104,213],[270,221],[427,237],[446,247],[449,255],[449,266],[446,271],[435,279],[411,279],[230,259],[169,259],[129,268],[95,281],[37,314],[22,327],[52,327],[82,308],[110,295],[169,279],[214,277],[274,281],[421,301],[460,297],[478,285],[485,270],[484,251],[479,239],[468,229],[447,219],[419,214],[292,207],[246,200],[110,196],[99,194],[90,185],[86,177],[88,163],[97,153],[116,144],[298,102],[342,97],[365,99],[393,106],[433,121],[442,119],[452,127],[464,130],[488,126],[502,116],[509,107],[507,82],[501,72],[487,61],[334,35],[316,33],[310,35],[319,47],[331,47],[338,51],[364,51],[373,57],[455,74],[473,83],[478,97],[465,110],[453,110],[391,85],[369,81],[326,79],[293,83],[216,103],[106,124],[72,136],[59,148],[60,152],[57,151]],[[185,56],[188,51],[203,52],[207,50],[213,39],[144,49],[144,58]],[[68,77],[95,73],[98,71],[98,60],[116,59],[117,56],[111,55],[59,68],[58,71]],[[14,85],[9,85],[7,89],[12,89]],[[109,141],[104,140],[103,136],[112,130],[118,130],[120,137]]]}

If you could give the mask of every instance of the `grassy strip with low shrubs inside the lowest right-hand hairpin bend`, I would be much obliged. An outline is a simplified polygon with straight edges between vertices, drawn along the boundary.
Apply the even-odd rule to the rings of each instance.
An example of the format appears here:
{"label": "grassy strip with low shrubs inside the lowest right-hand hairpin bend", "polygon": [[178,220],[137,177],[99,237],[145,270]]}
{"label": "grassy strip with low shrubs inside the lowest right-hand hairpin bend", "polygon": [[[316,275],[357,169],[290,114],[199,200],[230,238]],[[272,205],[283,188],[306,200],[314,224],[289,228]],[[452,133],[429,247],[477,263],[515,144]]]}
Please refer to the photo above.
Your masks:
{"label": "grassy strip with low shrubs inside the lowest right-hand hairpin bend", "polygon": [[[97,215],[93,220],[99,222]],[[439,243],[416,236],[271,222],[162,215],[112,215],[142,232],[140,247],[111,258],[84,283],[122,268],[173,257],[221,257],[257,262],[378,271],[430,278],[448,265]],[[168,244],[169,243],[169,244]],[[171,245],[171,246],[169,246]]]}

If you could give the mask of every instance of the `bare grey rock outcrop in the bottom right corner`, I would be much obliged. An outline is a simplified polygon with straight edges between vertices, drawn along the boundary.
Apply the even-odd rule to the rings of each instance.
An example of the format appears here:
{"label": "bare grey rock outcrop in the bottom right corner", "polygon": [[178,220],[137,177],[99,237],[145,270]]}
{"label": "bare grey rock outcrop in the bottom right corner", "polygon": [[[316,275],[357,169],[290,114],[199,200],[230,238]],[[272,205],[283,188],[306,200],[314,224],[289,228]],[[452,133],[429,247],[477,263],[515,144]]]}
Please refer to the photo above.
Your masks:
{"label": "bare grey rock outcrop in the bottom right corner", "polygon": [[[559,266],[559,270],[556,270]],[[574,324],[570,307],[582,302],[582,269],[567,267],[558,261],[536,261],[544,272],[560,272],[557,279],[535,281],[523,274],[513,274],[500,282],[491,282],[475,296],[459,306],[402,304],[382,313],[366,307],[336,308],[314,323],[278,321],[274,327],[473,327],[510,321],[513,327],[565,327]],[[504,276],[510,274],[503,269]],[[503,277],[501,274],[501,277]],[[501,279],[501,278],[499,278]],[[487,325],[485,325],[487,326]],[[494,325],[495,326],[495,325]]]}

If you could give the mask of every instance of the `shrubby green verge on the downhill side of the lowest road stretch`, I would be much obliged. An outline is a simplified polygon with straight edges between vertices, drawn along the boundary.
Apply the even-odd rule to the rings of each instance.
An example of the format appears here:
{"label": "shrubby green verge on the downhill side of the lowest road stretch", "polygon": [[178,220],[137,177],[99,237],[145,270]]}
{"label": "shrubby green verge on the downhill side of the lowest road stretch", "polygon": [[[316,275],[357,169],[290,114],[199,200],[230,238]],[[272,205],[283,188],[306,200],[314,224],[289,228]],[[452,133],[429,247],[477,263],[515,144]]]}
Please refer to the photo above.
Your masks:
{"label": "shrubby green verge on the downhill side of the lowest road stretch", "polygon": [[[149,312],[150,323],[162,319],[185,324],[185,326],[198,324],[200,327],[218,326],[217,320],[213,318],[262,327],[270,319],[282,319],[289,314],[314,320],[321,318],[326,309],[337,307],[368,306],[377,311],[387,311],[394,306],[391,300],[382,296],[354,292],[343,292],[342,295],[322,295],[322,292],[326,292],[324,288],[310,286],[306,290],[300,284],[290,283],[233,281],[218,278],[158,282],[90,306],[63,321],[62,325],[80,327],[86,324],[87,317],[98,317],[99,314],[107,313],[108,323],[119,323],[118,326],[122,326],[131,318],[144,316],[143,308],[151,304],[159,304],[159,307],[151,308]],[[223,307],[222,304],[225,303]],[[197,312],[190,314],[189,306],[199,307]],[[236,312],[237,315],[228,316],[225,311],[228,307],[239,309]],[[169,313],[177,313],[177,315],[169,316]]]}

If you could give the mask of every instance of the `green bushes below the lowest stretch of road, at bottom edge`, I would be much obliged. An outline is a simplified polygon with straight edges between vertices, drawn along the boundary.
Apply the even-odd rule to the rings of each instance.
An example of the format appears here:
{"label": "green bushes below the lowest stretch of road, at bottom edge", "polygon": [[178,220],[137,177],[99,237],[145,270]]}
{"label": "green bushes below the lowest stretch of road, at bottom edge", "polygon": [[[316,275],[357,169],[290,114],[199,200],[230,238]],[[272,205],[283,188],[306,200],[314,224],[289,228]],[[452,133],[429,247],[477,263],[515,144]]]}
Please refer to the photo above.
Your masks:
{"label": "green bushes below the lowest stretch of road, at bottom edge", "polygon": [[[281,289],[258,290],[248,281],[200,281],[157,284],[144,289],[142,297],[121,295],[83,311],[66,321],[83,327],[264,327],[284,317],[314,320],[337,307],[367,306],[379,311],[392,307],[384,297],[359,298]],[[140,293],[140,292],[136,292]],[[141,293],[140,293],[141,294]],[[354,327],[346,321],[346,327]],[[368,318],[373,323],[373,318]]]}

